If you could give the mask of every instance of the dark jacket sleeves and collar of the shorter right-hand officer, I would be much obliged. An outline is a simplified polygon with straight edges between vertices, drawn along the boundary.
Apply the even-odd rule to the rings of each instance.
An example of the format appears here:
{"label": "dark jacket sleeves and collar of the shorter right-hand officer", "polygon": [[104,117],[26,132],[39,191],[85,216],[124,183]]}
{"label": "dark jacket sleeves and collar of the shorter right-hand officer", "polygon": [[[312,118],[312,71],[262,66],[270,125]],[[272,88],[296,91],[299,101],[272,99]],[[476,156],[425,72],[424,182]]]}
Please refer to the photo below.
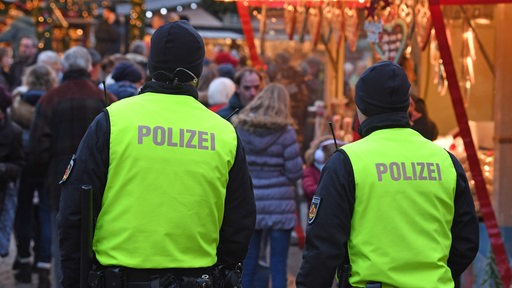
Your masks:
{"label": "dark jacket sleeves and collar of the shorter right-hand officer", "polygon": [[[405,114],[377,115],[366,119],[359,133],[364,137],[379,129],[410,127],[408,121]],[[466,174],[455,156],[449,154],[457,173],[457,184],[448,267],[452,277],[457,279],[476,256],[479,233]],[[331,287],[336,269],[348,259],[346,246],[354,211],[355,182],[352,164],[343,150],[334,153],[322,169],[316,193],[322,200],[315,220],[306,228],[297,287]]]}

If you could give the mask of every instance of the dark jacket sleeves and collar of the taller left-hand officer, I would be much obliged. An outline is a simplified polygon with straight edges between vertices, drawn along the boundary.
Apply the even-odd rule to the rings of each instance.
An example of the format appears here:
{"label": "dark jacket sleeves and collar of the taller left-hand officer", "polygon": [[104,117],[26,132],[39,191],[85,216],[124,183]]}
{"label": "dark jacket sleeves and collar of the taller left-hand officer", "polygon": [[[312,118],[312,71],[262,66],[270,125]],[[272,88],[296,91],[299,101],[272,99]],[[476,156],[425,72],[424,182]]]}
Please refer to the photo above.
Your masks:
{"label": "dark jacket sleeves and collar of the taller left-hand officer", "polygon": [[[168,92],[169,94],[182,93],[181,95],[178,94],[179,96],[169,95],[169,97],[192,97],[197,95],[194,91],[162,89],[162,87],[158,87],[160,85],[158,83],[146,85],[146,91]],[[184,93],[191,96],[183,95]],[[109,142],[110,122],[108,112],[104,111],[89,126],[78,147],[69,178],[62,184],[57,221],[60,233],[60,260],[62,263],[62,284],[64,287],[79,286],[81,241],[80,187],[84,184],[92,186],[95,203],[94,214],[97,216],[99,209],[101,209],[101,198],[107,182]],[[243,261],[256,221],[252,181],[241,143],[241,140],[238,139],[235,161],[229,171],[224,220],[219,232],[220,241],[217,247],[217,263],[224,265],[236,265],[236,263]]]}

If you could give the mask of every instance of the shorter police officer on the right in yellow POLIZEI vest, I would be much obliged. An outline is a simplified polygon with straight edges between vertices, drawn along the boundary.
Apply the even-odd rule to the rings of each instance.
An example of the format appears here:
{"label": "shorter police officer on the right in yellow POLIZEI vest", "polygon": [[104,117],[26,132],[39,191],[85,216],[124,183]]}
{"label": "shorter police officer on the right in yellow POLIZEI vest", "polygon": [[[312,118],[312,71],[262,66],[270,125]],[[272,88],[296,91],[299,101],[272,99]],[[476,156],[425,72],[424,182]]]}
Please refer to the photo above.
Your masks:
{"label": "shorter police officer on the right in yellow POLIZEI vest", "polygon": [[337,269],[349,282],[342,287],[454,287],[475,257],[478,222],[464,170],[411,129],[409,88],[389,61],[357,82],[363,138],[322,170],[297,287],[331,287]]}

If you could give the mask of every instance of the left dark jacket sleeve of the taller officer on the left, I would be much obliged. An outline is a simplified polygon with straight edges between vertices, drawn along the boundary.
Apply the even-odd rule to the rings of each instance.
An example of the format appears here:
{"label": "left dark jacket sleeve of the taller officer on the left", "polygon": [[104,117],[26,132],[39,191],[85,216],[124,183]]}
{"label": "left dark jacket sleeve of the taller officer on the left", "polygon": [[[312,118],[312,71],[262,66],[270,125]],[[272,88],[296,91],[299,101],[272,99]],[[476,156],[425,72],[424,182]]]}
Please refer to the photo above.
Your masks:
{"label": "left dark jacket sleeve of the taller officer on the left", "polygon": [[[68,178],[62,183],[60,209],[57,215],[61,249],[62,286],[79,287],[80,231],[82,185],[91,185],[94,191],[94,216],[99,213],[101,197],[108,172],[109,128],[108,114],[102,112],[85,133]],[[70,164],[71,165],[71,164]],[[69,167],[68,167],[69,169]],[[59,259],[57,259],[59,260]]]}

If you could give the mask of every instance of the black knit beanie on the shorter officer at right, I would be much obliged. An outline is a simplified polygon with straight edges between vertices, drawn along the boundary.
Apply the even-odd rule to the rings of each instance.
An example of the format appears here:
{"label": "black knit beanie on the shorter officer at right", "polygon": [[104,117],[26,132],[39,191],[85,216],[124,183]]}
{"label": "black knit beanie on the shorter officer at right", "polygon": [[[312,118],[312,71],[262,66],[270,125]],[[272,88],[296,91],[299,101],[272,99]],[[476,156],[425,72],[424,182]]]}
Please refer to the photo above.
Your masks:
{"label": "black knit beanie on the shorter officer at right", "polygon": [[366,116],[409,109],[411,84],[400,65],[379,62],[363,72],[356,84],[357,108]]}

